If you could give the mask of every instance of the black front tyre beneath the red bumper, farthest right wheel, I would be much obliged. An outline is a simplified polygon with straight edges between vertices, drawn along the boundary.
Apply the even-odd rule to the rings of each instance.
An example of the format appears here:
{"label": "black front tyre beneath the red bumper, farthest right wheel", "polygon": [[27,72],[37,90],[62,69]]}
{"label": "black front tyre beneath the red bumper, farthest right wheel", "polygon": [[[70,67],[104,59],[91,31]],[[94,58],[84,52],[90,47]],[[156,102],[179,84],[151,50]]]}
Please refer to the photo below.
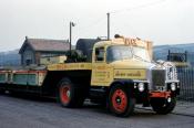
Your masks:
{"label": "black front tyre beneath the red bumper, farthest right wheel", "polygon": [[151,99],[151,106],[156,114],[166,115],[170,114],[176,106],[176,98],[171,97],[171,102],[167,99]]}

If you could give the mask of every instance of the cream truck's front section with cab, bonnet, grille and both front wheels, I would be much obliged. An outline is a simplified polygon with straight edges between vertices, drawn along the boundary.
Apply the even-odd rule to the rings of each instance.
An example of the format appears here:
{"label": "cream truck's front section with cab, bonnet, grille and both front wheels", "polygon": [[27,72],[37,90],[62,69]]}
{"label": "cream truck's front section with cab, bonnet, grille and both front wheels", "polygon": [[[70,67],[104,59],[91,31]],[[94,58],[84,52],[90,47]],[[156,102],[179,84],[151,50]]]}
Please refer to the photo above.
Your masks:
{"label": "cream truck's front section with cab, bonnet, grille and both front wheels", "polygon": [[110,110],[129,116],[135,104],[151,105],[157,114],[171,113],[180,86],[172,63],[152,61],[152,42],[120,38],[94,44],[91,90],[105,90]]}

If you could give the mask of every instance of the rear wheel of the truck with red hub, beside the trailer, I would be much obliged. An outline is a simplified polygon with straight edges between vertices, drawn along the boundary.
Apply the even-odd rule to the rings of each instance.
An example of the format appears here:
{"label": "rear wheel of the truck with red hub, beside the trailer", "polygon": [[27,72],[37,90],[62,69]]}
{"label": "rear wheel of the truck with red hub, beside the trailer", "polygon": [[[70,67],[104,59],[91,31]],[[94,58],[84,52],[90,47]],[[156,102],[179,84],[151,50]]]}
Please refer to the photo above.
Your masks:
{"label": "rear wheel of the truck with red hub, beside the trailer", "polygon": [[59,83],[58,99],[63,107],[81,107],[84,102],[83,89],[74,85],[69,78]]}

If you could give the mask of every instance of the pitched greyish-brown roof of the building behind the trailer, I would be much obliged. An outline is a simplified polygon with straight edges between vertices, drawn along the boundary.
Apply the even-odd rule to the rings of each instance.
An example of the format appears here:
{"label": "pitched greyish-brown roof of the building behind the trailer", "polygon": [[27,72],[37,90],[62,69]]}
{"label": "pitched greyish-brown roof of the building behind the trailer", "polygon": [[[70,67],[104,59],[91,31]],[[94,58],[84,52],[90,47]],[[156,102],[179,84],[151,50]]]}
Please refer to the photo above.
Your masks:
{"label": "pitched greyish-brown roof of the building behind the trailer", "polygon": [[67,40],[48,40],[48,39],[25,39],[19,53],[21,53],[25,45],[30,45],[33,51],[40,52],[64,52],[69,50],[69,42]]}

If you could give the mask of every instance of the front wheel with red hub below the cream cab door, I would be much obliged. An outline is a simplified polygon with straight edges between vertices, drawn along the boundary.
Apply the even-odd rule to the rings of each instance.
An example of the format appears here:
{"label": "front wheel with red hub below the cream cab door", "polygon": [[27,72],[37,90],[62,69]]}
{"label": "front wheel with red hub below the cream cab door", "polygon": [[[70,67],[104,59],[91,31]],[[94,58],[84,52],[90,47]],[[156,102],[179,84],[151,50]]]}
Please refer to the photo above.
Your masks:
{"label": "front wheel with red hub below the cream cab door", "polygon": [[135,98],[127,93],[126,87],[113,86],[109,95],[109,109],[112,114],[120,117],[129,117],[133,114]]}

